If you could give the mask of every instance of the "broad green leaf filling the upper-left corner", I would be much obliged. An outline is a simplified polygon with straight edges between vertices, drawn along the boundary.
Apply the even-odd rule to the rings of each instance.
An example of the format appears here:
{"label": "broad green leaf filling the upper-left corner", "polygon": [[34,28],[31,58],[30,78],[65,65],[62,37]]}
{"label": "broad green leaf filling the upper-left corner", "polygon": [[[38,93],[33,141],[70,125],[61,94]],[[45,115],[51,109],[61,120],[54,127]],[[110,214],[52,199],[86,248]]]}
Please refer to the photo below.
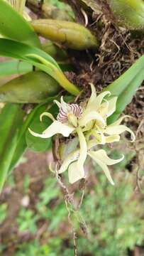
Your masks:
{"label": "broad green leaf filling the upper-left corner", "polygon": [[40,47],[40,41],[30,23],[9,3],[0,0],[0,33],[6,38]]}

